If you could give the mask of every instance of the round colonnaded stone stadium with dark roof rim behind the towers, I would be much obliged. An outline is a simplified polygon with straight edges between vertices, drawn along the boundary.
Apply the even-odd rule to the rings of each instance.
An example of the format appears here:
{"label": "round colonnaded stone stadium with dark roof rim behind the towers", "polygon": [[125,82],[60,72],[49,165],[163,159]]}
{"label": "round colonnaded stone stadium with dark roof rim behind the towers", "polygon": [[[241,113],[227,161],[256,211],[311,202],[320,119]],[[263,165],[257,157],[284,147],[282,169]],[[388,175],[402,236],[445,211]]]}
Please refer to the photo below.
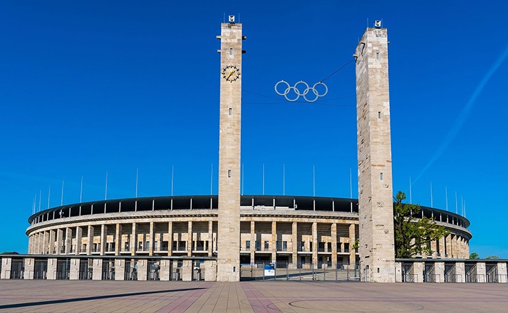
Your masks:
{"label": "round colonnaded stone stadium with dark roof rim behind the towers", "polygon": [[[432,243],[433,255],[420,257],[467,258],[472,237],[467,219],[429,207],[422,207],[422,215],[435,218],[450,234]],[[114,277],[132,279],[137,264],[139,278],[182,279],[175,277],[183,273],[183,262],[178,260],[193,260],[196,272],[194,268],[203,267],[217,255],[218,196],[84,202],[38,212],[29,222],[29,254],[63,260],[79,257],[86,266],[81,266],[78,277],[86,277],[89,258],[101,257],[106,263],[120,258],[130,265],[117,266],[124,273],[117,272]],[[238,253],[243,266],[275,263],[277,268],[353,268],[358,264],[356,238],[356,199],[241,196]],[[141,274],[141,259],[157,264],[157,270],[148,266],[146,274]],[[176,262],[171,262],[162,277],[160,263],[164,259]],[[104,277],[114,273],[113,264],[104,266]],[[47,272],[47,268],[39,271]]]}

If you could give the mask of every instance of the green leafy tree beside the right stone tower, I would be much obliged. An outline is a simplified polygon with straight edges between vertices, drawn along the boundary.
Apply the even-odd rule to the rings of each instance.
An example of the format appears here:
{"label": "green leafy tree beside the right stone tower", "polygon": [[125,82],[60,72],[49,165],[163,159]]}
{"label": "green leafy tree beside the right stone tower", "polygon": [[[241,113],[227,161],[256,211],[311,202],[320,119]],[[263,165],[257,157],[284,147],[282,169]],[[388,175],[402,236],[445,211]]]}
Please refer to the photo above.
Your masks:
{"label": "green leafy tree beside the right stone tower", "polygon": [[404,192],[397,192],[393,205],[393,228],[395,233],[395,257],[415,257],[417,254],[431,254],[430,242],[450,233],[432,218],[421,217],[419,205],[402,203]]}

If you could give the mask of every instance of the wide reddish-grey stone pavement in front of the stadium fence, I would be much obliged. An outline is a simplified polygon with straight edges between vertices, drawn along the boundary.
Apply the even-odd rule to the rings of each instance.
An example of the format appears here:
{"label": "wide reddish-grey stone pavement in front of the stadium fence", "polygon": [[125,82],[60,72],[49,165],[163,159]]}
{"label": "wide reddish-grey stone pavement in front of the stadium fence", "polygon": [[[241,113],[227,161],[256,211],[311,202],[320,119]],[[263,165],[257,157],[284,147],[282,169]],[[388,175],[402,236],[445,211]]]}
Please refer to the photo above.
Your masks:
{"label": "wide reddish-grey stone pavement in front of the stadium fence", "polygon": [[0,312],[508,312],[507,283],[0,281]]}

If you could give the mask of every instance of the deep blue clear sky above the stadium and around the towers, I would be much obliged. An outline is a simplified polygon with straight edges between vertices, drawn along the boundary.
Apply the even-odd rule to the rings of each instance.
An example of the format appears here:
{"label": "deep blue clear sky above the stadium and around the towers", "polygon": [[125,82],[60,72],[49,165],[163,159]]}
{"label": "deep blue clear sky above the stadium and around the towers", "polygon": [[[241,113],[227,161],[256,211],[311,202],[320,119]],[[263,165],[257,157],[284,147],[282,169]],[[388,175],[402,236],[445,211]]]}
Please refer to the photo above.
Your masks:
{"label": "deep blue clear sky above the stadium and around the towers", "polygon": [[459,211],[472,252],[508,258],[508,40],[502,1],[1,1],[0,251],[26,253],[34,197],[47,208],[135,195],[217,192],[224,14],[243,23],[244,194],[356,197],[354,65],[314,104],[314,83],[351,59],[367,25],[389,30],[393,188]]}

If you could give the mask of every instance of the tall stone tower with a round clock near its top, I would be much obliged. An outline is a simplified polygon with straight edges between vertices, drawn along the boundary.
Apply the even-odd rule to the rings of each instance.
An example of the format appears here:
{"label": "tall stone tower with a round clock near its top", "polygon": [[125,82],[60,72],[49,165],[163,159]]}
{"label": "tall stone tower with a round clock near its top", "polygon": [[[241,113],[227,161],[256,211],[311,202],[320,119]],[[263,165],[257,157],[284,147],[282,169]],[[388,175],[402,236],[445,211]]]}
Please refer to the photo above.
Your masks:
{"label": "tall stone tower with a round clock near its top", "polygon": [[220,135],[217,281],[240,281],[242,24],[220,25]]}

